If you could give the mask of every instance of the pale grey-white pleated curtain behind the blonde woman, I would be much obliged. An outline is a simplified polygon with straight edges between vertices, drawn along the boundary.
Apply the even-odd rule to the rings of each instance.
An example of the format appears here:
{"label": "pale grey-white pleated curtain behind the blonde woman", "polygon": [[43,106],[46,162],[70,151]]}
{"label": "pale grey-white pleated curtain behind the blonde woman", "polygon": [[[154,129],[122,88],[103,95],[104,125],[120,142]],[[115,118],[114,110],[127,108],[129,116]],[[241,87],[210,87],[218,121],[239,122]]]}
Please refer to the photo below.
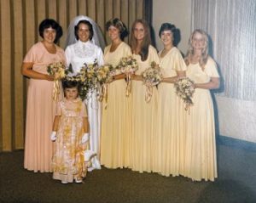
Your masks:
{"label": "pale grey-white pleated curtain behind the blonde woman", "polygon": [[255,22],[255,0],[192,1],[192,29],[209,34],[221,74],[220,96],[256,100]]}

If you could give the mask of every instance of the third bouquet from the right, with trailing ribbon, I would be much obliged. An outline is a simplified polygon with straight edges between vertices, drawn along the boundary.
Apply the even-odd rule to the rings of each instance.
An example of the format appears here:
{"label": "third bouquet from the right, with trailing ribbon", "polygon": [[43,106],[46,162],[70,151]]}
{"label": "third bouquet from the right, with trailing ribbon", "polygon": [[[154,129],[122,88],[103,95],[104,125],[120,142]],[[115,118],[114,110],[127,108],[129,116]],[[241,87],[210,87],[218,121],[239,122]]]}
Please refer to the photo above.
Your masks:
{"label": "third bouquet from the right, with trailing ribbon", "polygon": [[131,75],[133,75],[136,70],[138,70],[137,60],[133,59],[132,56],[123,57],[119,65],[117,65],[117,69],[120,70],[121,73],[124,73],[126,76],[126,97],[129,97],[131,93]]}

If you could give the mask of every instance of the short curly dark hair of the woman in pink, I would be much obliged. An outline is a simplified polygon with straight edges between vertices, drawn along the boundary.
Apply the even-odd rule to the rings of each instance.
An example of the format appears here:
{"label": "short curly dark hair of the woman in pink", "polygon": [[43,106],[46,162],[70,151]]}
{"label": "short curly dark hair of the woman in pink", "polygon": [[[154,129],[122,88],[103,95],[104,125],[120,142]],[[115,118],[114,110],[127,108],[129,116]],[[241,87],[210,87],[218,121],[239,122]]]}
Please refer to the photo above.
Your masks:
{"label": "short curly dark hair of the woman in pink", "polygon": [[44,38],[44,30],[48,28],[55,29],[56,31],[56,37],[55,37],[55,43],[59,41],[61,38],[63,31],[61,25],[59,25],[55,20],[53,19],[45,19],[43,20],[39,25],[39,35]]}

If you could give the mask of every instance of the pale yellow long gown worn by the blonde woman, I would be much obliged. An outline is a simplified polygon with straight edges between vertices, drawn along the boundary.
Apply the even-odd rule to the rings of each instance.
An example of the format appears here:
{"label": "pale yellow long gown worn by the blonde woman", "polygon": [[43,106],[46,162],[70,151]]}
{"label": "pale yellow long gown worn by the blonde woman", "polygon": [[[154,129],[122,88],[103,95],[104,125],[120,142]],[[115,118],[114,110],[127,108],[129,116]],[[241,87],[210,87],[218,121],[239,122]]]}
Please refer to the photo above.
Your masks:
{"label": "pale yellow long gown worn by the blonde woman", "polygon": [[[218,77],[216,63],[208,58],[205,69],[197,63],[190,64],[187,76],[195,83],[206,83],[211,77]],[[211,93],[208,89],[196,88],[194,105],[187,114],[184,176],[196,181],[214,181],[217,178],[217,159],[214,111]]]}

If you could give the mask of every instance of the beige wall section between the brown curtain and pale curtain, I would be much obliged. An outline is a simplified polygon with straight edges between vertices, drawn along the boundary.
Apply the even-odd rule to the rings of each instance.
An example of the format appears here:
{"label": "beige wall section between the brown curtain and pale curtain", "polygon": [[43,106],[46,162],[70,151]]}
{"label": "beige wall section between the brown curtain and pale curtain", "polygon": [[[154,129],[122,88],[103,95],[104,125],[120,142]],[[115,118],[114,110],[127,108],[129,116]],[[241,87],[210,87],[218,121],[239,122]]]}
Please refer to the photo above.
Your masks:
{"label": "beige wall section between the brown curtain and pale curtain", "polygon": [[177,26],[181,32],[178,48],[186,54],[191,31],[191,0],[153,0],[153,19],[156,46],[160,50],[162,44],[158,37],[160,25],[169,22]]}

